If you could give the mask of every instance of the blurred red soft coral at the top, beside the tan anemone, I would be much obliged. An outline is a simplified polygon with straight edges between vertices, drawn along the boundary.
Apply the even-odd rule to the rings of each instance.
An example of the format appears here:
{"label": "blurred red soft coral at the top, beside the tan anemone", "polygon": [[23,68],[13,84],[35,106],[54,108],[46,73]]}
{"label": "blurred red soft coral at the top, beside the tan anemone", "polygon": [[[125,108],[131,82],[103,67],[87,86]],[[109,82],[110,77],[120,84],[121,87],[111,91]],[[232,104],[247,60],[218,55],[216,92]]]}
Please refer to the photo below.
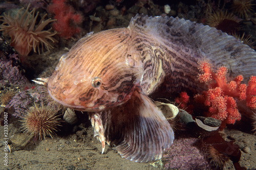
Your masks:
{"label": "blurred red soft coral at the top, beside the tan anemone", "polygon": [[76,13],[72,6],[65,3],[66,0],[53,0],[48,6],[50,13],[55,14],[56,22],[53,23],[53,28],[59,32],[59,36],[69,39],[74,34],[80,33],[81,28],[78,25],[83,18],[80,13]]}

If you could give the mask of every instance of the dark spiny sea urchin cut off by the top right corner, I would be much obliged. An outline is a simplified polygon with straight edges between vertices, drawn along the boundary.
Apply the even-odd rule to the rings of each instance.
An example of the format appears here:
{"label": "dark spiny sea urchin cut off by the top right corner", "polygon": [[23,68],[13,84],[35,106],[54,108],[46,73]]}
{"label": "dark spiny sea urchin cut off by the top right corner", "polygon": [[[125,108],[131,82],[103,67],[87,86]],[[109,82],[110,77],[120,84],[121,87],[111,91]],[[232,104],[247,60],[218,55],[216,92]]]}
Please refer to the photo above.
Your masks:
{"label": "dark spiny sea urchin cut off by the top right corner", "polygon": [[253,0],[234,0],[232,10],[240,17],[248,19],[250,14],[253,13]]}

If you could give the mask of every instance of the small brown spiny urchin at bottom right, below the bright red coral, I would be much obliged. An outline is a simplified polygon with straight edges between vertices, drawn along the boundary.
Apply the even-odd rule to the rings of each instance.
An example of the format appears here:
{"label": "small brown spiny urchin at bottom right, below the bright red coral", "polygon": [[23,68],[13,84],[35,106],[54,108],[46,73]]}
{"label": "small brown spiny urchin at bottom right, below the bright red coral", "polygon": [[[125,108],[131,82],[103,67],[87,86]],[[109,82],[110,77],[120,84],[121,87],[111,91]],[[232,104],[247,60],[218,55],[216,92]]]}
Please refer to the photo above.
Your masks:
{"label": "small brown spiny urchin at bottom right, below the bright red coral", "polygon": [[227,155],[216,150],[212,145],[208,146],[207,155],[210,159],[210,163],[214,164],[219,168],[227,167],[232,165],[232,161],[229,159]]}

